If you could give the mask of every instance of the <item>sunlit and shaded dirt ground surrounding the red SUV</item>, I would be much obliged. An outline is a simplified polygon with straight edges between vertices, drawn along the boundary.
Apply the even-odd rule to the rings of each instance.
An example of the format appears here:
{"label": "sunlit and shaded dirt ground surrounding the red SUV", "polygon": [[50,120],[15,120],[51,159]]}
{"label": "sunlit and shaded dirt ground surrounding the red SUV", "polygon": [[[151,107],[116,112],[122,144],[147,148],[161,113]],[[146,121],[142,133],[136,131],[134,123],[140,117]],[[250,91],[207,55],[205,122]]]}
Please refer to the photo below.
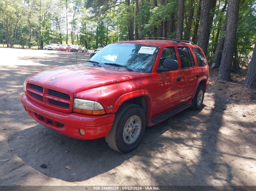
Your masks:
{"label": "sunlit and shaded dirt ground surrounding the red SUV", "polygon": [[[77,64],[88,57],[77,53]],[[135,151],[120,154],[104,138],[69,138],[26,114],[24,80],[69,64],[75,53],[0,48],[0,185],[256,185],[255,91],[217,82],[213,71],[202,110],[147,128]]]}

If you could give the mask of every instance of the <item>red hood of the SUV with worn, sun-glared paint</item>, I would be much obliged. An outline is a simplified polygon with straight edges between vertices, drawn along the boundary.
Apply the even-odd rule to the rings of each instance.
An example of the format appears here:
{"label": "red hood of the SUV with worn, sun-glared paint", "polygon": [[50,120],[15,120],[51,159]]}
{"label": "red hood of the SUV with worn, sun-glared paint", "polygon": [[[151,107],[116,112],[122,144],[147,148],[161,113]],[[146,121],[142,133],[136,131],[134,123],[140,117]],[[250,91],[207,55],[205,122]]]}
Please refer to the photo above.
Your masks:
{"label": "red hood of the SUV with worn, sun-glared paint", "polygon": [[150,73],[129,72],[87,65],[68,65],[39,72],[28,78],[28,82],[35,81],[77,93],[102,85],[150,75]]}

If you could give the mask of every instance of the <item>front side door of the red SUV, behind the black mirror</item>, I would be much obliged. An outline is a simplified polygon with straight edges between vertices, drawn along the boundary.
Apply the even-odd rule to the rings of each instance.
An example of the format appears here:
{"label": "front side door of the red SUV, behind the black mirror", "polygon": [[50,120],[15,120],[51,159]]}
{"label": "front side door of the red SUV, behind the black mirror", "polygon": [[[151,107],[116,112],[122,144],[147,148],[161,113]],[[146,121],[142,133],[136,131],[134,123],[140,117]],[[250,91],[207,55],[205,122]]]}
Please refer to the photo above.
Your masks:
{"label": "front side door of the red SUV, behind the black mirror", "polygon": [[[165,47],[161,53],[158,68],[163,67],[165,59],[177,60],[175,48]],[[181,67],[176,71],[157,72],[152,75],[152,116],[170,110],[180,104]]]}

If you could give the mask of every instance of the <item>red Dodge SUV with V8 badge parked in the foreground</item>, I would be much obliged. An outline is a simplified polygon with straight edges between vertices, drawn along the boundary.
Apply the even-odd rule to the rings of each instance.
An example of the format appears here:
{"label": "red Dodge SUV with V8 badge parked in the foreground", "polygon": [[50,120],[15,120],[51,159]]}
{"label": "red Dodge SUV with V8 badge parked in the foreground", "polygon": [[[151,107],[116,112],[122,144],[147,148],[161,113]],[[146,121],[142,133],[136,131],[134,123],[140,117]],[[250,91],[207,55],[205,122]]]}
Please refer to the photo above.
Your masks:
{"label": "red Dodge SUV with V8 badge parked in the foreground", "polygon": [[26,112],[54,131],[79,139],[105,137],[110,148],[128,153],[146,126],[202,106],[209,68],[192,42],[117,42],[90,57],[83,65],[27,78],[21,96]]}

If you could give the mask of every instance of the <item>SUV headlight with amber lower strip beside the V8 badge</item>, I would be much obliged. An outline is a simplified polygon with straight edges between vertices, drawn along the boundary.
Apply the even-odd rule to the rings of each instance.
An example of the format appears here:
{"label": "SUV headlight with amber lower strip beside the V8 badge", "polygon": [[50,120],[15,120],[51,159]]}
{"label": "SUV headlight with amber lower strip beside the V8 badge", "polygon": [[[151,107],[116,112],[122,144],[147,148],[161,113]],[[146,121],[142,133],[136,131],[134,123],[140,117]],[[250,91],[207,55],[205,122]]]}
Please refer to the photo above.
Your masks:
{"label": "SUV headlight with amber lower strip beside the V8 badge", "polygon": [[76,113],[83,113],[89,115],[105,114],[104,107],[97,101],[74,99],[73,111]]}

